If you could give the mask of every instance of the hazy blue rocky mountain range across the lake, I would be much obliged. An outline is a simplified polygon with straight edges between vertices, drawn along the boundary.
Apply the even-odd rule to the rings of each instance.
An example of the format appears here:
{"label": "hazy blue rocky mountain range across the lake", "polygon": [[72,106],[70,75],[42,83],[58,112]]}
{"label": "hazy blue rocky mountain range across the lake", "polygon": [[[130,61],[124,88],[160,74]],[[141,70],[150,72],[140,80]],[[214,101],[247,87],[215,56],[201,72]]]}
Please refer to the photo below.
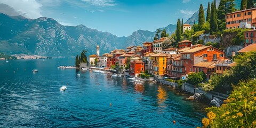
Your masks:
{"label": "hazy blue rocky mountain range across the lake", "polygon": [[[52,18],[27,19],[21,15],[10,16],[3,13],[0,13],[0,23],[0,52],[7,54],[70,57],[82,50],[86,50],[89,55],[95,54],[97,45],[102,54],[152,42],[155,35],[155,31],[138,30],[128,37],[117,37],[84,25],[63,26]],[[175,25],[165,27],[169,34],[175,28]]]}

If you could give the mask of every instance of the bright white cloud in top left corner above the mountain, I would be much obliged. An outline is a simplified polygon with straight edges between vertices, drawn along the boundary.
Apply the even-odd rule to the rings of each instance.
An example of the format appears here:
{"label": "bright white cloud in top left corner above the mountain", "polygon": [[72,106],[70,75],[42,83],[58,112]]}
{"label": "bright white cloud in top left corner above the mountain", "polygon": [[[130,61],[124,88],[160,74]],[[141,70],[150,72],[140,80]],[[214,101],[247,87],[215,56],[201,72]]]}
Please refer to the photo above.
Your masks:
{"label": "bright white cloud in top left corner above the mountain", "polygon": [[11,6],[20,15],[26,18],[36,19],[42,17],[42,4],[35,0],[0,0],[0,3]]}

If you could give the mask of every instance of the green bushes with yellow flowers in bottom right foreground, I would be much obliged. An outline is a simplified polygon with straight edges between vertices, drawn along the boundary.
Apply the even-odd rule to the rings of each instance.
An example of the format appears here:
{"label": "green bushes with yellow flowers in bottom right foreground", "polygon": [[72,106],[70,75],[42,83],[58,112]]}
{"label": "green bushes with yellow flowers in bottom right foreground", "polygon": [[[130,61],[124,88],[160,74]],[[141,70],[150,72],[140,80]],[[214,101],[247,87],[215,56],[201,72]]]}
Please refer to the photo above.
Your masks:
{"label": "green bushes with yellow flowers in bottom right foreground", "polygon": [[240,82],[220,108],[206,108],[203,127],[256,127],[256,80]]}

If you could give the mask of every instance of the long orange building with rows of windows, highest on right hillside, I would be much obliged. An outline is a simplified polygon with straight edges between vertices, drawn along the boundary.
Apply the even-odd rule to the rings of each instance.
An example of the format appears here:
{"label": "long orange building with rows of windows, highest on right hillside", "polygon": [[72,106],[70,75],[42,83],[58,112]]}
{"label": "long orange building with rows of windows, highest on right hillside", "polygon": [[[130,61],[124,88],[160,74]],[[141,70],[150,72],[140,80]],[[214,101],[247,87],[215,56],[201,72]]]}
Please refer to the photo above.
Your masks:
{"label": "long orange building with rows of windows, highest on right hillside", "polygon": [[226,29],[251,28],[256,24],[256,8],[226,14]]}

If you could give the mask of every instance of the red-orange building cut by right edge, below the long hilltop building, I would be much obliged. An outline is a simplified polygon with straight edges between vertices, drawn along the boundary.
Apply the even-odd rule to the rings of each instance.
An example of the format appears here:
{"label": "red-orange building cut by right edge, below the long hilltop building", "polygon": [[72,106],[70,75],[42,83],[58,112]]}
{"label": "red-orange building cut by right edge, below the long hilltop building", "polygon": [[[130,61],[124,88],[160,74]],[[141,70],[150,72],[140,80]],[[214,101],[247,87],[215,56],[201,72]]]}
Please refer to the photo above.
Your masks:
{"label": "red-orange building cut by right edge, below the long hilltop building", "polygon": [[245,38],[244,47],[252,43],[256,43],[256,30],[252,29],[252,30],[244,31],[244,38]]}

